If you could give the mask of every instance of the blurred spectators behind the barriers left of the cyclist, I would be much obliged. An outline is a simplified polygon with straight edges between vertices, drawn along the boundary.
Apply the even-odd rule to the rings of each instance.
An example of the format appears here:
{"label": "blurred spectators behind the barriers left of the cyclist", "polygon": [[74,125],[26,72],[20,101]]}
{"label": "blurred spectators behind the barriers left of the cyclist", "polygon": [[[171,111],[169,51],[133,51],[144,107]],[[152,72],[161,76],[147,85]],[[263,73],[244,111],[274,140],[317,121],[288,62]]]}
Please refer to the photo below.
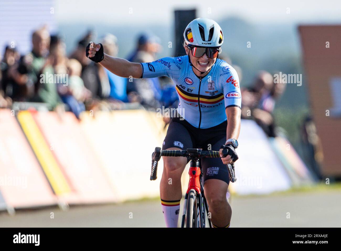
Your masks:
{"label": "blurred spectators behind the barriers left of the cyclist", "polygon": [[[92,40],[93,33],[89,31],[67,56],[63,40],[42,27],[32,34],[30,53],[20,55],[16,48],[6,46],[0,63],[0,108],[10,108],[13,102],[40,102],[48,110],[70,110],[79,118],[85,110],[132,107],[155,110],[177,106],[177,94],[170,79],[132,81],[88,59],[85,48]],[[118,43],[113,34],[106,34],[99,43],[106,54],[117,56]],[[154,61],[160,49],[159,38],[145,33],[138,38],[136,50],[128,59]]]}

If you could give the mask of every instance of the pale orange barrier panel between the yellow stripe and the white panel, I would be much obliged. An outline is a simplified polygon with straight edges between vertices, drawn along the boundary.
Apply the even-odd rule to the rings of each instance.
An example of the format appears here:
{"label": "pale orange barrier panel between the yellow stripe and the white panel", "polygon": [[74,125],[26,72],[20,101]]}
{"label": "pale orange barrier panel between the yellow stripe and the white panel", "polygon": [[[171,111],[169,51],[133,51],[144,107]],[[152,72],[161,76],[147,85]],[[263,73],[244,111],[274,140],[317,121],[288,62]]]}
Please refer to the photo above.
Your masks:
{"label": "pale orange barrier panel between the yellow stripe and the white panel", "polygon": [[33,118],[76,194],[66,201],[115,201],[113,188],[74,114],[66,112],[60,118],[55,112],[39,112],[33,113]]}

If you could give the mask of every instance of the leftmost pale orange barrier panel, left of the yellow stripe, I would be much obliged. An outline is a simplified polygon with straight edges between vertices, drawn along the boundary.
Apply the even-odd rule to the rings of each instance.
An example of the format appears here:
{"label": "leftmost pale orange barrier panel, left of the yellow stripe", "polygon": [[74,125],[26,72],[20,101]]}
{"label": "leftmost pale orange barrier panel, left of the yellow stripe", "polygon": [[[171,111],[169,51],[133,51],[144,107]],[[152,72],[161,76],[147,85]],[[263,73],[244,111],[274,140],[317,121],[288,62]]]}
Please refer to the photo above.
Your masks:
{"label": "leftmost pale orange barrier panel, left of the yellow stripe", "polygon": [[0,109],[0,191],[14,208],[57,204],[15,116]]}

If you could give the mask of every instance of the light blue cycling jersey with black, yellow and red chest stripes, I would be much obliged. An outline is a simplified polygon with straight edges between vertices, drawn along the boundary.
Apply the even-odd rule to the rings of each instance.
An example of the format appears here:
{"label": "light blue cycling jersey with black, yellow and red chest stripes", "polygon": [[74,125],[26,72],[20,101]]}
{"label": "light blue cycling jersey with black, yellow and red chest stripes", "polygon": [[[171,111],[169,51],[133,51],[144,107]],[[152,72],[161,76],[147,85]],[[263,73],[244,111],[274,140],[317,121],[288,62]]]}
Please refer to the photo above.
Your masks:
{"label": "light blue cycling jersey with black, yellow and red chest stripes", "polygon": [[141,65],[141,78],[167,76],[174,81],[180,100],[178,113],[194,127],[219,125],[226,121],[225,108],[241,107],[237,72],[224,60],[218,58],[203,78],[194,74],[187,55]]}

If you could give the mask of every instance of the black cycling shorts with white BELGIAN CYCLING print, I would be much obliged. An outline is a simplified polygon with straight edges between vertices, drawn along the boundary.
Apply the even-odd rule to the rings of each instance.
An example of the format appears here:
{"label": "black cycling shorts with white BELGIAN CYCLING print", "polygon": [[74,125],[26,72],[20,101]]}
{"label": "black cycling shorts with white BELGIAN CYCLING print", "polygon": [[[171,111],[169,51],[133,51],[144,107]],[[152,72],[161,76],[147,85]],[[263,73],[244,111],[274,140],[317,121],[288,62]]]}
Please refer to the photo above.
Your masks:
{"label": "black cycling shorts with white BELGIAN CYCLING print", "polygon": [[[163,141],[162,150],[176,147],[182,150],[199,148],[205,151],[219,151],[220,146],[226,141],[226,127],[227,121],[217,126],[199,129],[186,120],[173,117]],[[229,184],[227,167],[220,158],[202,158],[201,166],[204,183],[208,179],[218,179]]]}

